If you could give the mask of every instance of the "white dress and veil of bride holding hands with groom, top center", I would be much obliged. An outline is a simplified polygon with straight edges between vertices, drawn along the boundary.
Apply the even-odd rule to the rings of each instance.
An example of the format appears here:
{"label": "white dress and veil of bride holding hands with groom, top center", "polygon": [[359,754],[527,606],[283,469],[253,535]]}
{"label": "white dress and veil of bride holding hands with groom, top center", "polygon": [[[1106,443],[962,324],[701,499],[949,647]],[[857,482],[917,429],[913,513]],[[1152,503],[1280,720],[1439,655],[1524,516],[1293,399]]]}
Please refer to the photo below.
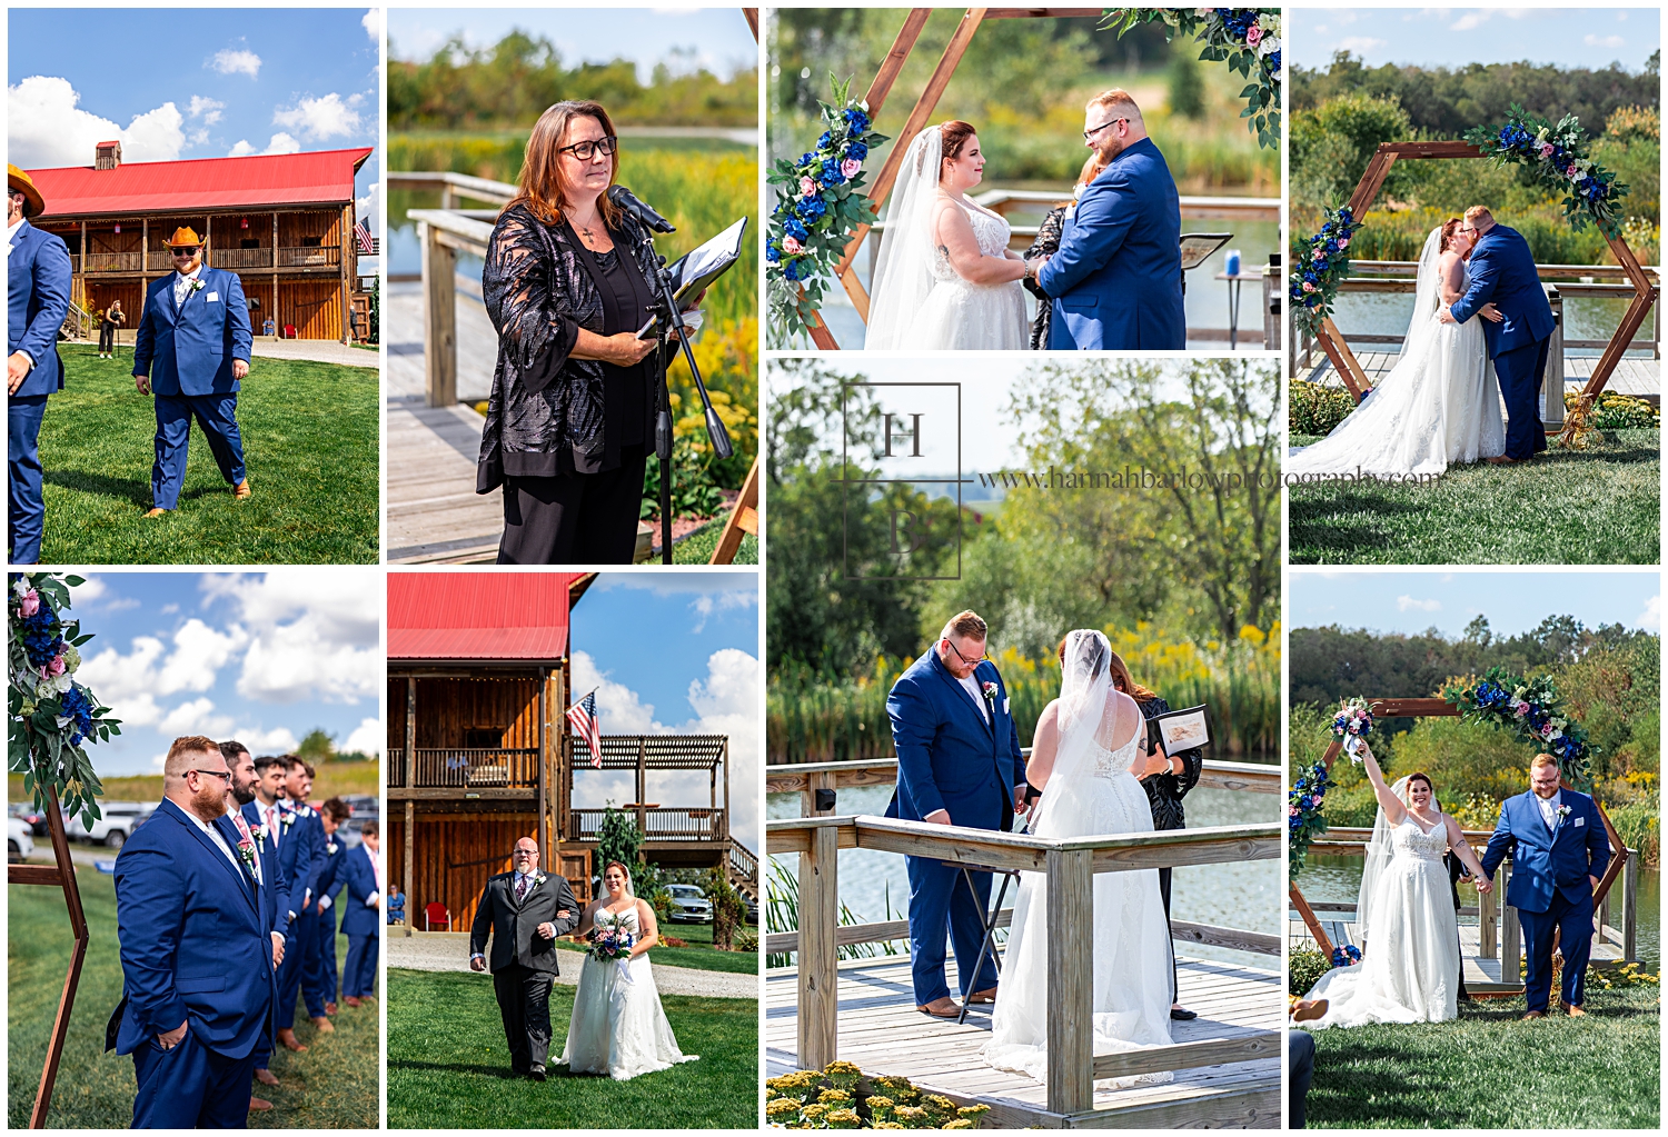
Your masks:
{"label": "white dress and veil of bride holding hands with groom, top center", "polygon": [[[916,135],[886,213],[869,298],[866,350],[1017,352],[1031,347],[1026,293],[1017,280],[972,283],[932,240],[939,202],[939,128]],[[1001,257],[1012,227],[962,202],[979,252]]]}

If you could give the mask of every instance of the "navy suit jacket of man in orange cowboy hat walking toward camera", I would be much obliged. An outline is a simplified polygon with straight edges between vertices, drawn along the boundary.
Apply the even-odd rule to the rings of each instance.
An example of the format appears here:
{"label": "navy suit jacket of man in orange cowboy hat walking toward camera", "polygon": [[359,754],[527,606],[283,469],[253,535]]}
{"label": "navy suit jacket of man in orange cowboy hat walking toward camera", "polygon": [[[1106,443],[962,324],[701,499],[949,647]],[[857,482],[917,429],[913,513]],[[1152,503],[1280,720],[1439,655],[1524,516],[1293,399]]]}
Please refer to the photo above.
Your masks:
{"label": "navy suit jacket of man in orange cowboy hat walking toward camera", "polygon": [[175,277],[170,272],[145,290],[133,373],[150,375],[150,390],[158,395],[230,395],[239,390],[232,360],[247,363],[254,345],[244,285],[235,272],[203,265],[198,273],[203,287],[175,310]]}

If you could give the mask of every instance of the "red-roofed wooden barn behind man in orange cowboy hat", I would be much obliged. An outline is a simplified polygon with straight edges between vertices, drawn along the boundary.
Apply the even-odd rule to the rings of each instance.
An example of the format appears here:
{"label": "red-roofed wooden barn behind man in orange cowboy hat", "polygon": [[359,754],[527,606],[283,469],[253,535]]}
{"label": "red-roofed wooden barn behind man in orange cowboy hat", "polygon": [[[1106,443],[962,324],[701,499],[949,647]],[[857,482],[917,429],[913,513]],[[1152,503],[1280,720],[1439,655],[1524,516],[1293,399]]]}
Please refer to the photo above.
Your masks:
{"label": "red-roofed wooden barn behind man in orange cowboy hat", "polygon": [[[93,163],[28,175],[47,198],[32,223],[70,247],[72,300],[98,313],[120,300],[128,333],[145,287],[173,272],[163,242],[180,225],[203,237],[203,260],[244,282],[255,335],[347,342],[364,307],[354,237],[354,175],[370,150],[122,162],[100,142]],[[369,320],[359,330],[365,335]]]}

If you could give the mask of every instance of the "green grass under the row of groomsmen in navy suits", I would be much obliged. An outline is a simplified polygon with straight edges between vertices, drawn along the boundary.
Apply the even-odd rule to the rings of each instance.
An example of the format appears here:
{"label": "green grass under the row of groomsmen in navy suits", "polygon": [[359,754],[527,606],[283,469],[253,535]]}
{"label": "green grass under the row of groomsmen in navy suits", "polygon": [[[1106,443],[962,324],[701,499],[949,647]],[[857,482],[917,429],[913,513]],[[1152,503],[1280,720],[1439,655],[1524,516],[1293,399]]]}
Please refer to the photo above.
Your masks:
{"label": "green grass under the row of groomsmen in navy suits", "polygon": [[[47,1124],[53,1129],[127,1129],[133,1122],[133,1059],[103,1052],[105,1022],[122,1002],[115,880],[87,869],[78,870],[77,879],[92,944]],[[70,917],[60,889],[8,885],[7,895],[7,1120],[10,1129],[27,1129],[70,965]],[[347,937],[337,937],[339,965],[345,959]],[[354,1009],[342,1004],[334,1024],[334,1034],[319,1035],[305,1010],[300,1014],[295,1037],[310,1049],[290,1054],[280,1047],[272,1055],[279,1087],[260,1087],[260,1097],[275,1109],[250,1114],[252,1127],[375,1129],[377,1005]]]}

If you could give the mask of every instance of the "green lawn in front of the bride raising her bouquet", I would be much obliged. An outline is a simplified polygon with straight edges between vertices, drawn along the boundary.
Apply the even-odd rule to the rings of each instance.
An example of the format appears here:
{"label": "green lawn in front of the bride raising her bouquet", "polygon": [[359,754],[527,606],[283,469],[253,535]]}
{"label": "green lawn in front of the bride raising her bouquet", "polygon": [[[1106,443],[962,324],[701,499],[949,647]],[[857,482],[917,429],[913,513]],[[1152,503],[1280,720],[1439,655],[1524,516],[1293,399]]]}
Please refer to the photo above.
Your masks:
{"label": "green lawn in front of the bride raising her bouquet", "polygon": [[1309,1129],[1656,1129],[1658,989],[1596,992],[1586,1019],[1523,999],[1454,1022],[1314,1032]]}

